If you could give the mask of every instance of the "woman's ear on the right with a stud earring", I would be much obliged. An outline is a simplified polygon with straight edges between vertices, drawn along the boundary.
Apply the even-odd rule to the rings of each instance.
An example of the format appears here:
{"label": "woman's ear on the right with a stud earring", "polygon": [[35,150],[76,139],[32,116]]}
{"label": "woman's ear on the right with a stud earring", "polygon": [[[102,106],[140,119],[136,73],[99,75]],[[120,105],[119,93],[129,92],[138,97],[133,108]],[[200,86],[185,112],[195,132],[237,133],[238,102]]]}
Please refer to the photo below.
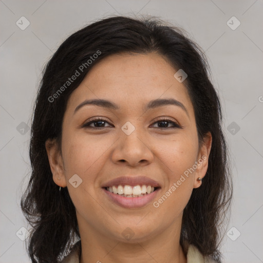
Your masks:
{"label": "woman's ear on the right with a stud earring", "polygon": [[198,157],[196,160],[197,168],[195,170],[194,188],[198,188],[202,184],[202,180],[199,181],[198,178],[200,177],[202,179],[205,176],[206,171],[208,170],[208,159],[211,151],[211,146],[212,135],[209,132],[203,138],[203,143],[200,147]]}

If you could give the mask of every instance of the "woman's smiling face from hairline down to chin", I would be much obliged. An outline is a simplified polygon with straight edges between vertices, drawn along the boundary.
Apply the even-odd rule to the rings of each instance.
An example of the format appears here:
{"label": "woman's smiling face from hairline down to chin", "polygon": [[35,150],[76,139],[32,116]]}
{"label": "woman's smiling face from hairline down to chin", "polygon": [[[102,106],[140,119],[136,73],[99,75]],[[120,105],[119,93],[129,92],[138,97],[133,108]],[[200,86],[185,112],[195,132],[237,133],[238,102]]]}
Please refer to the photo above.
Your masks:
{"label": "woman's smiling face from hairline down to chin", "polygon": [[[81,233],[131,242],[180,228],[193,188],[201,184],[197,178],[205,175],[211,138],[199,148],[193,105],[176,71],[156,53],[115,54],[95,65],[73,91],[61,158],[51,170],[55,183],[68,187]],[[82,104],[87,100],[109,103]],[[175,102],[146,108],[155,100]],[[103,121],[88,125],[97,118]],[[109,182],[119,177],[124,181]],[[139,177],[156,181],[157,190],[125,197],[103,188],[127,185],[126,193],[138,194],[143,184],[154,185]]]}

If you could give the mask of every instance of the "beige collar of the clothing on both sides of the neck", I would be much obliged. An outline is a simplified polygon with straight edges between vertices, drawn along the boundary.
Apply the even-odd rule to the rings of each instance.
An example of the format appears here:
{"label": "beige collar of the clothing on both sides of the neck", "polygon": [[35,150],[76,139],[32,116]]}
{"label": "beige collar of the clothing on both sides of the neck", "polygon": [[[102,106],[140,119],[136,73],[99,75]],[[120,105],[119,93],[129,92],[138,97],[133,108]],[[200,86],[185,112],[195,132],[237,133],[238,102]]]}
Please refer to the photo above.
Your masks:
{"label": "beige collar of the clothing on both sides of the neck", "polygon": [[[187,263],[214,263],[211,258],[204,257],[199,250],[193,246],[189,245],[187,249]],[[62,263],[79,263],[79,255],[76,249],[73,249],[71,253],[62,260]]]}

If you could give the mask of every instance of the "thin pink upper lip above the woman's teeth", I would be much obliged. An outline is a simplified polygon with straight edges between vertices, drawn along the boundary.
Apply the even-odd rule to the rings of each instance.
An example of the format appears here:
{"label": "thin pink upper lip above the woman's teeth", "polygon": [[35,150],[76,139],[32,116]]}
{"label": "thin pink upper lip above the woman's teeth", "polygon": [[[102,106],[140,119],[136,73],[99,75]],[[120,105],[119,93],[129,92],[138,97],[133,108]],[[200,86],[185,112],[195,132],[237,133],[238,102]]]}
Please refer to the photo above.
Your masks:
{"label": "thin pink upper lip above the woman's teeth", "polygon": [[146,176],[121,176],[115,179],[112,179],[106,183],[103,183],[101,187],[109,187],[113,185],[130,185],[130,186],[136,186],[136,185],[151,185],[154,187],[160,187],[160,184]]}

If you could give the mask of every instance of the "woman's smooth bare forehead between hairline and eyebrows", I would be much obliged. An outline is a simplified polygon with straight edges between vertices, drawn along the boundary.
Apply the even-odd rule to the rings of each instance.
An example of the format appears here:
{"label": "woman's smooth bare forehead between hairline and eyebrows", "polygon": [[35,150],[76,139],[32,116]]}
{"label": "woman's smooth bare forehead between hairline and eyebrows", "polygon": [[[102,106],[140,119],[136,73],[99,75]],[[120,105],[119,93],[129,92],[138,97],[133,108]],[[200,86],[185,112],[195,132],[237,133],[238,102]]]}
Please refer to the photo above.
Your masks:
{"label": "woman's smooth bare forehead between hairline and eyebrows", "polygon": [[174,78],[176,71],[157,53],[110,55],[93,66],[72,92],[69,107],[74,110],[85,99],[107,99],[132,110],[151,100],[174,98],[191,111],[186,87]]}

